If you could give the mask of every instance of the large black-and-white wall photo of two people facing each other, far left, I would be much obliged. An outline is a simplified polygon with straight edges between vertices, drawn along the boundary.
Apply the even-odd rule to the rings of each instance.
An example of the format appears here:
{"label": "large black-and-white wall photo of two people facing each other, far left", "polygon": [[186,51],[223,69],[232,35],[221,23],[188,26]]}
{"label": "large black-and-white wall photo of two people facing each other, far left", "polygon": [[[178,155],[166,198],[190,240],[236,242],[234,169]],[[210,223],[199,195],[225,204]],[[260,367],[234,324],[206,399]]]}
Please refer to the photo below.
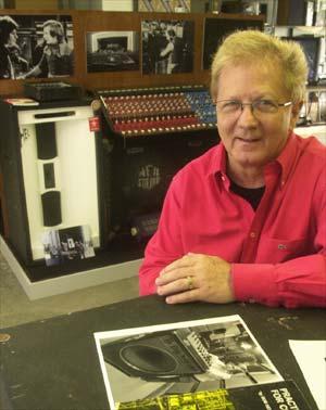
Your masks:
{"label": "large black-and-white wall photo of two people facing each other, far left", "polygon": [[0,79],[74,74],[70,15],[0,15]]}

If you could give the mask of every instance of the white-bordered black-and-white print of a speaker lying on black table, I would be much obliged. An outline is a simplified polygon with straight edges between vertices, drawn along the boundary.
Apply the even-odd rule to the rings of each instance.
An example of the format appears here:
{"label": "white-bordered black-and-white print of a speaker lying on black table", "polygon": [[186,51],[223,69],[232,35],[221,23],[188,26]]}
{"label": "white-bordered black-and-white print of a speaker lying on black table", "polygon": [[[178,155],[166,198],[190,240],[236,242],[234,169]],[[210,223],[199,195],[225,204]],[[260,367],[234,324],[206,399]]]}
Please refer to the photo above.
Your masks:
{"label": "white-bordered black-and-white print of a speaker lying on black table", "polygon": [[283,380],[239,316],[100,332],[95,338],[111,409]]}

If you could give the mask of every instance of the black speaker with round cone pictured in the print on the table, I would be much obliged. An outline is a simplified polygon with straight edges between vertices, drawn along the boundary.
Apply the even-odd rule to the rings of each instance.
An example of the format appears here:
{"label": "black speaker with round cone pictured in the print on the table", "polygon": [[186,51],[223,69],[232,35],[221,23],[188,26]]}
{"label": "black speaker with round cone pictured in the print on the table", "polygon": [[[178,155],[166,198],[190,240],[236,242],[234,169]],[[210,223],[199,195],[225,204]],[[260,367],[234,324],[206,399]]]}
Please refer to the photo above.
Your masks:
{"label": "black speaker with round cone pictured in the print on the table", "polygon": [[104,361],[146,381],[179,380],[204,372],[210,355],[189,329],[118,339],[102,346]]}

